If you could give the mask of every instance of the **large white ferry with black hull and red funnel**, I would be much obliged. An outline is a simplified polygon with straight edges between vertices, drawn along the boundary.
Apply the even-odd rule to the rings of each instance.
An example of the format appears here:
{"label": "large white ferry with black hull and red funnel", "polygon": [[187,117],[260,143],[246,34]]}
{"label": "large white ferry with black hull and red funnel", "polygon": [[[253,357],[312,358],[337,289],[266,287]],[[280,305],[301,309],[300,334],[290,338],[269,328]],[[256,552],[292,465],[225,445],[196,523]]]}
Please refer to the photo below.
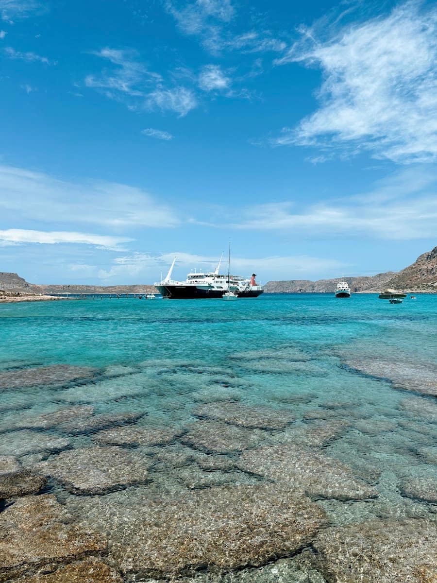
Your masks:
{"label": "large white ferry with black hull and red funnel", "polygon": [[188,273],[185,282],[171,279],[175,262],[176,258],[174,258],[165,279],[154,284],[164,298],[171,300],[220,298],[228,291],[233,292],[238,297],[258,297],[263,293],[262,286],[256,283],[255,273],[252,273],[250,279],[237,275],[230,275],[229,277],[220,275],[221,258],[214,271]]}

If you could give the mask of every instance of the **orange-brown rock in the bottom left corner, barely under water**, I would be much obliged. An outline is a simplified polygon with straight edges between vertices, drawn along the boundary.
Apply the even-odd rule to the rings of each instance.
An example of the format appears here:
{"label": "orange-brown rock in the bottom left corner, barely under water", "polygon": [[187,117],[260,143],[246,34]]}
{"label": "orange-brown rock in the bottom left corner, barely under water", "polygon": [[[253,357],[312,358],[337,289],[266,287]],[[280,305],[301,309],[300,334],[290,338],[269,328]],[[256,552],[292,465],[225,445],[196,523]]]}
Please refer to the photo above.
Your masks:
{"label": "orange-brown rock in the bottom left corner, barely under water", "polygon": [[0,514],[0,581],[105,551],[102,535],[67,524],[69,519],[49,494],[19,498],[6,508]]}

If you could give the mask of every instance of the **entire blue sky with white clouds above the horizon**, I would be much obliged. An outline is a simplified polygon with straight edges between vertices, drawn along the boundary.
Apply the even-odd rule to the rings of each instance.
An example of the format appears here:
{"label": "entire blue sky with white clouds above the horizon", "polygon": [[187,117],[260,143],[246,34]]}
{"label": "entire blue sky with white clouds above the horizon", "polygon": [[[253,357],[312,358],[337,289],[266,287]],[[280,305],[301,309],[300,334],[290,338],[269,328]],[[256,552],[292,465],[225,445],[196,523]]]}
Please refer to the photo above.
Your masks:
{"label": "entire blue sky with white clouds above the horizon", "polygon": [[0,0],[0,271],[398,271],[437,245],[437,5]]}

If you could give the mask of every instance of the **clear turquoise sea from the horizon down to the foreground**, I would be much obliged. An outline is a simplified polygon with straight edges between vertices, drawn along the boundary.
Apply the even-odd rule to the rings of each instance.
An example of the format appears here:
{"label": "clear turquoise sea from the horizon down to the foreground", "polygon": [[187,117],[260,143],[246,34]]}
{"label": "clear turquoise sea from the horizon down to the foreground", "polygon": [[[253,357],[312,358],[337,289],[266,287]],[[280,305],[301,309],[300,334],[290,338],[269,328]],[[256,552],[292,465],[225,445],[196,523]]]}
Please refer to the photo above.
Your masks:
{"label": "clear turquoise sea from the horizon down to the foreground", "polygon": [[0,522],[48,499],[105,539],[50,569],[437,580],[437,295],[3,304],[0,346],[0,460],[44,476]]}

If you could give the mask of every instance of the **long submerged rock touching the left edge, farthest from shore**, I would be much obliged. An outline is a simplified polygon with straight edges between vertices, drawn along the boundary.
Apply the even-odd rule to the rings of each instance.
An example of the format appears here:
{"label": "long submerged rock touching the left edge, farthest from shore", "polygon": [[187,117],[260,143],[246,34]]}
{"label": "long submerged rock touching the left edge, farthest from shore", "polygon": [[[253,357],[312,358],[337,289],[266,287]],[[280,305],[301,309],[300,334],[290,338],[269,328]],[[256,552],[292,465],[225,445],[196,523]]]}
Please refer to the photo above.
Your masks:
{"label": "long submerged rock touching the left edge, farthest from shore", "polygon": [[16,389],[35,385],[63,385],[82,378],[93,377],[95,368],[54,364],[53,366],[19,368],[0,372],[0,389]]}

